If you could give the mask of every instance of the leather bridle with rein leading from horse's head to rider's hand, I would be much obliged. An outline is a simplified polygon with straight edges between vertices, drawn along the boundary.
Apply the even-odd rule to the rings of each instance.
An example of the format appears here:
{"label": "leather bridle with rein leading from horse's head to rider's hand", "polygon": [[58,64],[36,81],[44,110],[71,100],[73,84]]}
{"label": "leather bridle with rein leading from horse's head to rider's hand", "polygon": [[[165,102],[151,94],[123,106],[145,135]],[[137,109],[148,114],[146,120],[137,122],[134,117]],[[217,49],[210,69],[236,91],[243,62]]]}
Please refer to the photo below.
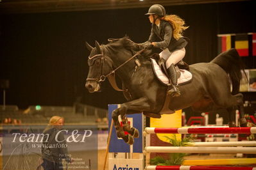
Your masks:
{"label": "leather bridle with rein leading from horse's head to rider's hand", "polygon": [[[99,78],[87,78],[86,81],[96,81],[96,82],[103,82],[106,80],[106,77],[110,77],[110,75],[114,74],[116,70],[118,70],[119,68],[121,68],[123,65],[125,65],[126,63],[128,63],[128,61],[132,60],[133,58],[135,58],[136,56],[138,56],[139,54],[141,54],[142,52],[144,52],[145,49],[139,50],[135,55],[133,55],[131,58],[129,58],[128,60],[124,61],[123,64],[117,66],[117,68],[115,68],[114,70],[112,70],[111,72],[107,73],[107,75],[104,75],[103,73],[103,61],[104,59],[107,61],[106,56],[104,54],[96,54],[92,57],[89,57],[89,62],[91,59],[94,58],[100,58],[101,59],[101,75],[99,76]],[[96,59],[95,59],[96,60]],[[90,65],[89,65],[90,66]],[[91,65],[92,66],[92,65]]]}

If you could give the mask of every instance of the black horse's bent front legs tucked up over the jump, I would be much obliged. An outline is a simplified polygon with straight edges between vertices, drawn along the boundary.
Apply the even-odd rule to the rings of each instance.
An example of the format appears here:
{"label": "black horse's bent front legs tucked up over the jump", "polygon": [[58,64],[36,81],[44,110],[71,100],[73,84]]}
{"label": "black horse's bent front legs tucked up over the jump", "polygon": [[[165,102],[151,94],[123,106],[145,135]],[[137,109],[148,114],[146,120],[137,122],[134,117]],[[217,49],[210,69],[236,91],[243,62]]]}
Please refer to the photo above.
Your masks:
{"label": "black horse's bent front legs tucked up over the jump", "polygon": [[[128,124],[128,119],[126,114],[129,113],[136,113],[142,111],[149,111],[149,102],[146,98],[142,97],[137,100],[132,100],[130,102],[121,104],[119,108],[115,109],[112,112],[112,118],[114,120],[115,130],[117,132],[117,137],[121,137],[124,139],[124,142],[128,144],[133,144],[134,139],[133,137],[139,137],[139,131],[136,128],[130,127]],[[121,127],[118,116],[121,116],[121,120],[123,122],[123,128]],[[127,131],[129,134],[125,135],[124,130]]]}

